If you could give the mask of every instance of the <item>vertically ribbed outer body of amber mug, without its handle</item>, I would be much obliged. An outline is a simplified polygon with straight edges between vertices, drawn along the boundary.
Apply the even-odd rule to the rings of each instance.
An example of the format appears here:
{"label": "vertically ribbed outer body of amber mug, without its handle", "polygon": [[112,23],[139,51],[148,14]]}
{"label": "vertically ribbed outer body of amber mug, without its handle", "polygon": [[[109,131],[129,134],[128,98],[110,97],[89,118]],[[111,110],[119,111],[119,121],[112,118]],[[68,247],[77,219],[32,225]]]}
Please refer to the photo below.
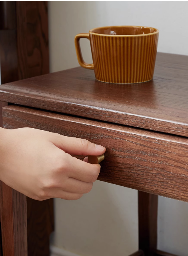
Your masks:
{"label": "vertically ribbed outer body of amber mug, without its handle", "polygon": [[159,32],[107,35],[89,32],[94,72],[106,83],[142,83],[153,78]]}

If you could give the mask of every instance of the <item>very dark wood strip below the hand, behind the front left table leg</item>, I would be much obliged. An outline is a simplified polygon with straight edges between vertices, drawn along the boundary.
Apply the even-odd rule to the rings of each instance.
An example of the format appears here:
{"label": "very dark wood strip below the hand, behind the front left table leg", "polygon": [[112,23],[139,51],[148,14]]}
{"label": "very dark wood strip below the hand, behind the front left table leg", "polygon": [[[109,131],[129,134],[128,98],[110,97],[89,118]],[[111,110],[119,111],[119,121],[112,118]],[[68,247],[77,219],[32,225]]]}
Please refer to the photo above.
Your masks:
{"label": "very dark wood strip below the hand, behind the front left table leg", "polygon": [[27,198],[28,256],[50,255],[50,234],[54,230],[53,199]]}

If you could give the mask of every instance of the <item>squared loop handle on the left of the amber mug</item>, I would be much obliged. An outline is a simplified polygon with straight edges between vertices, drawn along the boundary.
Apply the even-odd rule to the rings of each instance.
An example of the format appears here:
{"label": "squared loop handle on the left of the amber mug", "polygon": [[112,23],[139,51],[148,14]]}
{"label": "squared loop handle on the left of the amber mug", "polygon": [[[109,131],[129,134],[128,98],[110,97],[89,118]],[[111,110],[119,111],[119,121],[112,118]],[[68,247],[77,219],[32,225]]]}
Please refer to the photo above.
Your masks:
{"label": "squared loop handle on the left of the amber mug", "polygon": [[88,33],[82,33],[82,34],[77,34],[74,38],[78,63],[80,64],[81,67],[83,67],[85,69],[94,69],[93,63],[88,64],[88,63],[84,62],[84,60],[83,60],[82,52],[81,52],[81,48],[80,48],[80,38],[88,38],[90,40],[90,35]]}

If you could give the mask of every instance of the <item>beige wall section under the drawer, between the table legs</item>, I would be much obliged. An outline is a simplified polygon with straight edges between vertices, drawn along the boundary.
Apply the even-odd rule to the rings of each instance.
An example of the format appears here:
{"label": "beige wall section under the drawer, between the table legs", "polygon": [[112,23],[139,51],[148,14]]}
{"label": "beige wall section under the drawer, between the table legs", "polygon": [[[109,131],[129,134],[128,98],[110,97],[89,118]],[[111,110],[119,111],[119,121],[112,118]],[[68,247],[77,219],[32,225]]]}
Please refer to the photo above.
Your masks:
{"label": "beige wall section under the drawer, between the table legs", "polygon": [[52,244],[83,256],[126,256],[138,248],[137,191],[102,181],[78,201],[55,200]]}

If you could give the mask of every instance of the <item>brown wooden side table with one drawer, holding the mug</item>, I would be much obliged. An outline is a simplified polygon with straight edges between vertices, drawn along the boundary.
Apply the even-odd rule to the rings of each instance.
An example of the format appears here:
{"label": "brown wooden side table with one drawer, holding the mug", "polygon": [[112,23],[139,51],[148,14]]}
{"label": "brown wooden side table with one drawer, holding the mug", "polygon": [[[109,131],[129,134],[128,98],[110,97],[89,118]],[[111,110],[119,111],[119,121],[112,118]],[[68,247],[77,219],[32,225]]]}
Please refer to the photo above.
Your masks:
{"label": "brown wooden side table with one drawer, holding the mug", "polygon": [[[158,53],[146,83],[102,83],[79,67],[0,86],[4,128],[33,127],[106,147],[98,179],[138,189],[139,248],[132,256],[173,256],[157,249],[158,195],[188,202],[187,69],[188,56]],[[4,256],[49,255],[52,201],[1,183],[0,203]]]}

